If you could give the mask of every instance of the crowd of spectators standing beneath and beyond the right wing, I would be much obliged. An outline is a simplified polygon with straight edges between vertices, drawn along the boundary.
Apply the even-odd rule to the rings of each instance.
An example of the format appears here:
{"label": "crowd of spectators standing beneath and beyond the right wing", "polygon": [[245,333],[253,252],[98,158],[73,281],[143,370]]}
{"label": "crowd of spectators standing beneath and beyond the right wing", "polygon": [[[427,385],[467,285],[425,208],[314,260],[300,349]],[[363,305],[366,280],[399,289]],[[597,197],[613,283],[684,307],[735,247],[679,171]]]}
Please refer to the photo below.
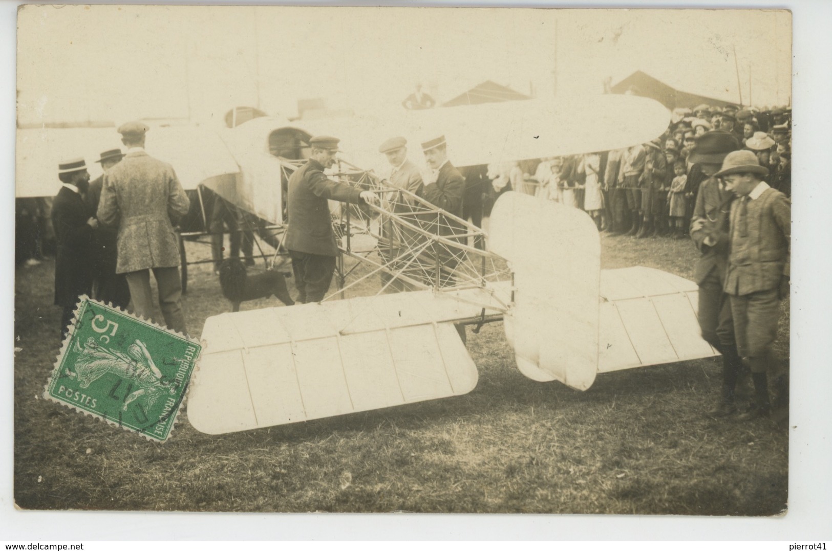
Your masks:
{"label": "crowd of spectators standing beneath and beyond the right wing", "polygon": [[686,239],[705,175],[689,155],[697,137],[728,133],[769,170],[771,187],[791,196],[791,110],[696,106],[677,109],[656,140],[625,150],[490,165],[486,210],[513,189],[587,211],[599,231],[638,239]]}

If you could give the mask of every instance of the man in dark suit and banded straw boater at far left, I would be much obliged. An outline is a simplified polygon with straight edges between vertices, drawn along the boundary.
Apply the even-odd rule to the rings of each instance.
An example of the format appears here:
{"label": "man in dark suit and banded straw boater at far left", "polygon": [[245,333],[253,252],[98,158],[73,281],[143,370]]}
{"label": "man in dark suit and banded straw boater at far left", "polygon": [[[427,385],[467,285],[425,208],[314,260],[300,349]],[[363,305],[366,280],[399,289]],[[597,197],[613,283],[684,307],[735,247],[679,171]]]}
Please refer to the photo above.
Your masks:
{"label": "man in dark suit and banded straw boater at far left", "polygon": [[55,304],[63,308],[63,339],[69,332],[78,296],[89,294],[92,287],[92,232],[98,221],[82,197],[90,182],[83,158],[62,162],[57,172],[62,187],[52,203],[52,227],[57,240]]}

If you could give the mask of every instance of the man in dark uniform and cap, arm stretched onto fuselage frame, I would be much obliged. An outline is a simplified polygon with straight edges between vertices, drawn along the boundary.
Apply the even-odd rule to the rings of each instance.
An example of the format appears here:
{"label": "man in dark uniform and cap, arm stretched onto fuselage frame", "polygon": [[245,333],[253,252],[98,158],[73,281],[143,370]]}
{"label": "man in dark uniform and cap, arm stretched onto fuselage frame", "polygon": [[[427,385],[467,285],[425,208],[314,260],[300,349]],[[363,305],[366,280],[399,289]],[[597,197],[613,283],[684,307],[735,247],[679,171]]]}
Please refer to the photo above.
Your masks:
{"label": "man in dark uniform and cap, arm stretched onto fuselage frame", "polygon": [[319,303],[332,283],[338,245],[327,201],[378,203],[371,191],[329,180],[324,170],[335,164],[338,138],[319,135],[310,140],[312,155],[289,178],[289,228],[286,248],[292,258],[299,303]]}

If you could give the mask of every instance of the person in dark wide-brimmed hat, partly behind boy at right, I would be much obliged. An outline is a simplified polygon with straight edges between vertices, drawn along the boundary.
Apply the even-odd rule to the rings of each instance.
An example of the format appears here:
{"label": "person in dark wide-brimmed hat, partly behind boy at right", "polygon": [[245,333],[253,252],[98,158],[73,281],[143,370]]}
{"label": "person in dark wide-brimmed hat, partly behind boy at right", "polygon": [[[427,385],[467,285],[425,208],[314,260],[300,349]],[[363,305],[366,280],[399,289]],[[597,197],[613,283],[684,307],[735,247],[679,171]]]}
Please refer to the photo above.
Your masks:
{"label": "person in dark wide-brimmed hat, partly behind boy at right", "polygon": [[720,170],[726,155],[739,148],[739,141],[730,132],[712,130],[696,138],[689,157],[689,164],[699,165],[706,176],[696,194],[691,239],[701,252],[694,267],[694,279],[699,285],[699,327],[702,338],[722,354],[721,396],[716,407],[708,412],[714,417],[735,413],[735,389],[741,366],[730,299],[724,290],[729,244],[728,212],[734,196],[713,176]]}

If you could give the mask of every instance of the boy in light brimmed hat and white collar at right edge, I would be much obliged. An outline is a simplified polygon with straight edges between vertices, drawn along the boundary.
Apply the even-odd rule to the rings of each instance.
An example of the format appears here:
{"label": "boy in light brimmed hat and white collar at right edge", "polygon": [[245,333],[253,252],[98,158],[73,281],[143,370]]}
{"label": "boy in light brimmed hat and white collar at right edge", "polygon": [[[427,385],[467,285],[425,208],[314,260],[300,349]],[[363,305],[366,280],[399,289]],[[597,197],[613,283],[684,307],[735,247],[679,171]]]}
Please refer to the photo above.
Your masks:
{"label": "boy in light brimmed hat and white collar at right edge", "polygon": [[[769,416],[768,374],[774,373],[771,347],[777,338],[780,300],[789,295],[791,205],[785,194],[763,180],[769,170],[752,151],[726,156],[716,177],[736,195],[730,208],[730,249],[725,290],[740,357],[754,381],[754,406],[741,419]],[[777,373],[780,406],[788,396],[785,373]]]}

